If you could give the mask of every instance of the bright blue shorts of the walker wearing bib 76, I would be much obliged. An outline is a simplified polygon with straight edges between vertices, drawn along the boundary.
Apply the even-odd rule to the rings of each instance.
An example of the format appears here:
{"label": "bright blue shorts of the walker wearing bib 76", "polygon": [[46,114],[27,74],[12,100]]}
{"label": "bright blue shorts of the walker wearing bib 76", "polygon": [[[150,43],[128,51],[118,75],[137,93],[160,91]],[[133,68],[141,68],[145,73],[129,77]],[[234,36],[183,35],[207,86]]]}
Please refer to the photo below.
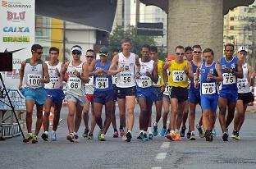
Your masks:
{"label": "bright blue shorts of the walker wearing bib 76", "polygon": [[210,110],[212,112],[216,112],[217,110],[217,94],[207,94],[201,95],[201,108],[202,110]]}

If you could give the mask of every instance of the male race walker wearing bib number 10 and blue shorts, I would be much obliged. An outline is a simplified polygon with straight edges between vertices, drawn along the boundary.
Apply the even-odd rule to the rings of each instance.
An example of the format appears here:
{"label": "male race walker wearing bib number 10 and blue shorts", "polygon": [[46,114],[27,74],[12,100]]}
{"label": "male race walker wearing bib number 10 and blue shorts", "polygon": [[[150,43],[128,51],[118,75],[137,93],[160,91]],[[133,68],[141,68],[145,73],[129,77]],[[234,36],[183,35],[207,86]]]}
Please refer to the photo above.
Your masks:
{"label": "male race walker wearing bib number 10 and blue shorts", "polygon": [[148,137],[147,130],[153,102],[158,98],[158,91],[153,87],[153,82],[158,82],[158,64],[150,58],[150,47],[148,44],[142,46],[141,55],[141,59],[139,58],[139,79],[137,79],[137,98],[140,107],[139,137],[137,139],[148,141],[153,139],[152,134]]}

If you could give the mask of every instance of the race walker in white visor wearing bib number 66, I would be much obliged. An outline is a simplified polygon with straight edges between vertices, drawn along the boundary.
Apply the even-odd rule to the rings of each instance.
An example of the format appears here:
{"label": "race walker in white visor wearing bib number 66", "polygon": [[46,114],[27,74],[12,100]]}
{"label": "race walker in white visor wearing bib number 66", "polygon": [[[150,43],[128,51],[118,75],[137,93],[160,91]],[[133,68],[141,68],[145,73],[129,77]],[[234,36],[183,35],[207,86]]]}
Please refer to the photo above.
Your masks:
{"label": "race walker in white visor wearing bib number 66", "polygon": [[[85,83],[89,82],[88,68],[80,60],[82,48],[75,45],[71,48],[72,61],[66,62],[62,69],[62,76],[67,72],[66,100],[68,105],[67,127],[69,134],[66,139],[78,142],[77,134],[82,120],[83,107],[85,105]],[[75,118],[75,121],[74,121]]]}

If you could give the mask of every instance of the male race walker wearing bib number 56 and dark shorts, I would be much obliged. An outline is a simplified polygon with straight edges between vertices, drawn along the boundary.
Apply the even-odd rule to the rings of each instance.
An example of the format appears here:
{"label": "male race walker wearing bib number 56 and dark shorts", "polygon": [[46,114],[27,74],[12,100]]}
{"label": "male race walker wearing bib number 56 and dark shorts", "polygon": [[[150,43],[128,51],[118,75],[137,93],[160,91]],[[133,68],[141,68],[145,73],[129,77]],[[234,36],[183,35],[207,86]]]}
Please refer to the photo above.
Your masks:
{"label": "male race walker wearing bib number 56 and dark shorts", "polygon": [[[135,78],[139,78],[139,57],[130,53],[131,40],[121,41],[122,52],[114,56],[110,66],[110,75],[117,74],[117,103],[120,113],[120,135],[127,142],[131,139],[131,130],[135,121]],[[136,67],[136,72],[135,72]],[[128,112],[128,130],[126,128],[126,108]]]}

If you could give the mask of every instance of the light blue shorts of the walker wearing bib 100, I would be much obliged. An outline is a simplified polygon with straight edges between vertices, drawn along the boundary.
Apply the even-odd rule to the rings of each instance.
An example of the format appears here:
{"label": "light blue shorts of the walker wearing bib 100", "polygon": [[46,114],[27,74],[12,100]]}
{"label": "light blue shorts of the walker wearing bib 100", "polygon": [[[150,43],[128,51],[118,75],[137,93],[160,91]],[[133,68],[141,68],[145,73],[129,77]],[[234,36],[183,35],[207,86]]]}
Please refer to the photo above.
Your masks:
{"label": "light blue shorts of the walker wearing bib 100", "polygon": [[37,105],[43,105],[47,98],[47,93],[44,88],[24,88],[21,89],[21,94],[25,96],[26,100],[32,100]]}

